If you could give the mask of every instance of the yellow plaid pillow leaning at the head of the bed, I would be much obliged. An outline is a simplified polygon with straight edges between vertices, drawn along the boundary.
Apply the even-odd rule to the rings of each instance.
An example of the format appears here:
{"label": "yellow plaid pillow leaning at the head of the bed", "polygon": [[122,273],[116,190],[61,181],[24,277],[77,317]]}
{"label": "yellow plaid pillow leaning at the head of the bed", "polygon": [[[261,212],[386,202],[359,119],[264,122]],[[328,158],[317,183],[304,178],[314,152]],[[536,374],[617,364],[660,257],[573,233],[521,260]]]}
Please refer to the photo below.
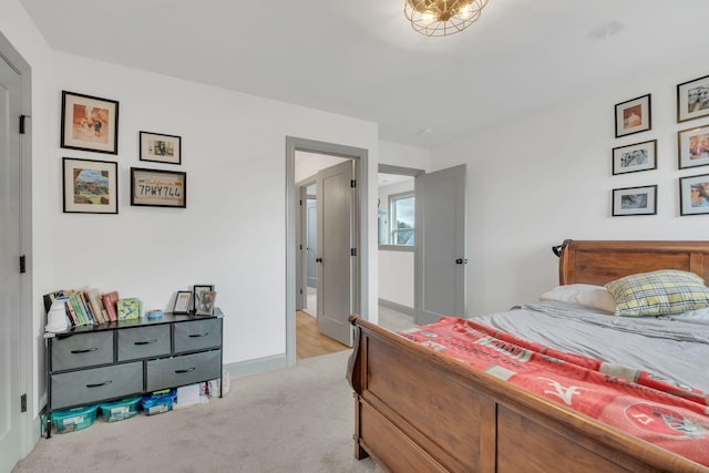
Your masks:
{"label": "yellow plaid pillow leaning at the head of the bed", "polygon": [[709,288],[693,273],[662,269],[608,282],[616,299],[616,316],[641,317],[681,313],[709,307]]}

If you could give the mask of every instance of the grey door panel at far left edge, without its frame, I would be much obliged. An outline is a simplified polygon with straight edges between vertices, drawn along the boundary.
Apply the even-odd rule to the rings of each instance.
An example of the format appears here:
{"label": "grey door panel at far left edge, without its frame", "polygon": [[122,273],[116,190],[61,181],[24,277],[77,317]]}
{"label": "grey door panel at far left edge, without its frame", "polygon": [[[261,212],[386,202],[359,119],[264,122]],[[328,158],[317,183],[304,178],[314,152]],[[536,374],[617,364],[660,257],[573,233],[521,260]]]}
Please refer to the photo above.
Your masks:
{"label": "grey door panel at far left edge, without its frame", "polygon": [[0,471],[20,460],[20,75],[0,55]]}

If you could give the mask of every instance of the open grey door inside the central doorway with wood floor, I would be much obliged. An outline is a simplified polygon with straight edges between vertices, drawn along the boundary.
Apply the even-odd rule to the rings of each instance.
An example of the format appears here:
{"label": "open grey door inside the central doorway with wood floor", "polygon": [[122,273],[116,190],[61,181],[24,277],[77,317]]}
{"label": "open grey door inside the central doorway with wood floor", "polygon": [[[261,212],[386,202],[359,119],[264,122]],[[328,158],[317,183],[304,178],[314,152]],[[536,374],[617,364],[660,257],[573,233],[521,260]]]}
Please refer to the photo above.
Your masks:
{"label": "open grey door inside the central doorway with wood floor", "polygon": [[348,160],[318,173],[318,327],[352,346],[353,163]]}

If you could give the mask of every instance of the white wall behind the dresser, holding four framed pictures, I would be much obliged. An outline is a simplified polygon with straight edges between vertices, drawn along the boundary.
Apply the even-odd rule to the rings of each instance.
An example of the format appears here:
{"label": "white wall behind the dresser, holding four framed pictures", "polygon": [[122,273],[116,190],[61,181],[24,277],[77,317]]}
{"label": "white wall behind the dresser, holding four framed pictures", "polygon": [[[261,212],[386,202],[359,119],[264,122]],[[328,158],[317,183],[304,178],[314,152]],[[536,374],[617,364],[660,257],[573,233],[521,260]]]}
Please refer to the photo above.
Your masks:
{"label": "white wall behind the dresser, holding four framed pictures", "polygon": [[[91,285],[169,309],[174,292],[214,284],[225,313],[224,362],[286,350],[286,136],[369,150],[377,179],[378,127],[346,116],[51,51],[17,0],[0,0],[0,30],[32,66],[33,339],[43,404],[41,296]],[[119,154],[64,150],[61,91],[120,102]],[[181,135],[181,166],[138,160],[138,131]],[[119,163],[119,215],[62,212],[62,157]],[[130,168],[187,173],[187,208],[130,206]],[[369,208],[377,186],[369,186]],[[368,218],[376,241],[377,217]],[[377,311],[377,248],[369,247]]]}

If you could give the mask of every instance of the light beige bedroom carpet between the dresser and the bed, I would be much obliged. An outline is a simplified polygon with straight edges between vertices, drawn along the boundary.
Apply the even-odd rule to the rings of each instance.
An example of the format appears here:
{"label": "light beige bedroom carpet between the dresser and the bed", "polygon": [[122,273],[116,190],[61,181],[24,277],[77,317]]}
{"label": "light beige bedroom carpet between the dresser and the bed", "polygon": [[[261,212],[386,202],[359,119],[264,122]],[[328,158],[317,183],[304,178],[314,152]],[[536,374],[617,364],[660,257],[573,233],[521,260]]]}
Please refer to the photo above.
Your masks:
{"label": "light beige bedroom carpet between the dresser and the bed", "polygon": [[12,470],[28,472],[381,472],[354,459],[351,350],[233,379],[207,404],[41,439]]}

